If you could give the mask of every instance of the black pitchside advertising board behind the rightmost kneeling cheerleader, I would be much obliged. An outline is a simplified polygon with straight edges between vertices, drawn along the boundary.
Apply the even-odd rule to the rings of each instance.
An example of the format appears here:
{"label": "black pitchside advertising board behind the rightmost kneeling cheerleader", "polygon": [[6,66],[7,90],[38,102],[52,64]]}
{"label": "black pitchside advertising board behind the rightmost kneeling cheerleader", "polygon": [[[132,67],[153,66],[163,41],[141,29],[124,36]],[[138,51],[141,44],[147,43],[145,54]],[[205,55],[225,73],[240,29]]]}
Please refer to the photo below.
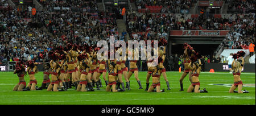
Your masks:
{"label": "black pitchside advertising board behind the rightmost kneeling cheerleader", "polygon": [[[214,69],[214,72],[229,72],[229,65],[226,63],[205,63],[205,71],[209,72],[210,69]],[[255,73],[255,64],[245,64],[242,72]]]}

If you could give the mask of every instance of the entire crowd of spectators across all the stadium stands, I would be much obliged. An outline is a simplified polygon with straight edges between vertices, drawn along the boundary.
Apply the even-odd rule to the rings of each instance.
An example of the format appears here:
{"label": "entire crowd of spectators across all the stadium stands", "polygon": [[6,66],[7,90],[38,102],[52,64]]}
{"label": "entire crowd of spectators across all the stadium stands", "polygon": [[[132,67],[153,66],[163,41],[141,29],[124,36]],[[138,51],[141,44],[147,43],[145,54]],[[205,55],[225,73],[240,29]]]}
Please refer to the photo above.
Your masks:
{"label": "entire crowd of spectators across all the stadium stands", "polygon": [[[95,1],[45,1],[47,7],[84,7],[94,9]],[[139,5],[171,6],[178,3],[187,5],[193,0],[180,1],[138,1]],[[1,2],[2,3],[2,2]],[[74,6],[79,5],[79,6]],[[255,5],[255,3],[254,3]],[[96,10],[97,11],[97,10]],[[37,57],[42,51],[51,50],[74,40],[78,45],[96,44],[99,40],[109,40],[114,35],[116,40],[125,40],[126,34],[131,40],[159,40],[168,38],[170,30],[230,30],[220,44],[229,49],[248,49],[250,43],[255,44],[255,14],[234,14],[225,18],[212,15],[198,15],[185,18],[184,14],[147,14],[126,11],[127,32],[118,32],[115,14],[97,11],[44,10],[37,16],[27,11],[0,10],[0,61],[13,61],[15,57],[25,60]],[[122,31],[122,30],[121,30]],[[218,59],[218,58],[217,58]],[[210,60],[215,62],[219,60]]]}

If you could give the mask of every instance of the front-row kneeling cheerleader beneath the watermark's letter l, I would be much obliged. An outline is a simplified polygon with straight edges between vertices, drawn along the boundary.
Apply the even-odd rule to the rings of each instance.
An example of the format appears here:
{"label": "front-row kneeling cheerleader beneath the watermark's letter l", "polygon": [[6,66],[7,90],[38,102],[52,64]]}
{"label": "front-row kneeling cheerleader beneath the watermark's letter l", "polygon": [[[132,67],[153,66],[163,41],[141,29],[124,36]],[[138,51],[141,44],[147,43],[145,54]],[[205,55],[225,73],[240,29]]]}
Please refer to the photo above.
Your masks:
{"label": "front-row kneeling cheerleader beneath the watermark's letter l", "polygon": [[113,61],[111,63],[109,61],[109,75],[108,75],[109,83],[108,83],[108,86],[106,86],[106,92],[110,92],[111,89],[112,89],[112,92],[118,92],[115,89],[115,86],[117,84],[116,78],[115,78],[116,76],[117,76],[117,67],[115,67],[115,63]]}

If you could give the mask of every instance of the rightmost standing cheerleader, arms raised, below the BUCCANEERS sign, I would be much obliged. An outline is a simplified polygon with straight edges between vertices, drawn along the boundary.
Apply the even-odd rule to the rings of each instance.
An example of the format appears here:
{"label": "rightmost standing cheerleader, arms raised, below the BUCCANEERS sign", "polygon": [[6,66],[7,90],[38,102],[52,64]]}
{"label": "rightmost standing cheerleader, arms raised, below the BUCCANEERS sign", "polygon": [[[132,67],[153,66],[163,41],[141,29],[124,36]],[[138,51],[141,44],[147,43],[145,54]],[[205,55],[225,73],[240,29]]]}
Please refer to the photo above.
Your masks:
{"label": "rightmost standing cheerleader, arms raised, below the BUCCANEERS sign", "polygon": [[183,57],[184,57],[184,72],[180,77],[180,91],[184,91],[183,90],[183,80],[187,76],[187,74],[189,76],[189,81],[191,81],[192,69],[191,69],[191,67],[188,67],[188,64],[191,63],[191,60],[189,59],[188,47],[185,48]]}

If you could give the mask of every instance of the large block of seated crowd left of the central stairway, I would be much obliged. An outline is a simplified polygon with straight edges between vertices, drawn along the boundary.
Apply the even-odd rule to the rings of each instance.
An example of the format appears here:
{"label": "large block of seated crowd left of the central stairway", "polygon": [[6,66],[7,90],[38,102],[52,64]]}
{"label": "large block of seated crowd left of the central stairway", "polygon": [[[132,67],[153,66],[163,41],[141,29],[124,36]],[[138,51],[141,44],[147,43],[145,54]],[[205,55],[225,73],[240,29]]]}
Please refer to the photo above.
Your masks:
{"label": "large block of seated crowd left of the central stairway", "polygon": [[42,60],[40,52],[71,40],[78,45],[92,45],[112,34],[118,39],[121,36],[113,14],[101,11],[43,11],[30,17],[27,11],[0,10],[0,61],[14,61],[16,57]]}

